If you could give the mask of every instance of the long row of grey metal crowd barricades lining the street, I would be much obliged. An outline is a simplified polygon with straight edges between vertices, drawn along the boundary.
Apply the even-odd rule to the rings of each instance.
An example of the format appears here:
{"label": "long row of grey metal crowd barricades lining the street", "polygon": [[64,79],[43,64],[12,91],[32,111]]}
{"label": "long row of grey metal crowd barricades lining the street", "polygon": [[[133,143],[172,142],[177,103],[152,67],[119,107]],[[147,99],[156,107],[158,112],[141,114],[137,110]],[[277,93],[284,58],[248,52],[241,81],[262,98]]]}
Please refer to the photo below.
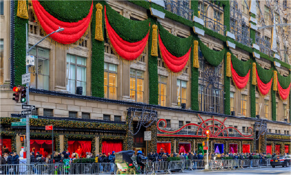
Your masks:
{"label": "long row of grey metal crowd barricades lining the street", "polygon": [[[270,167],[271,159],[217,159],[208,161],[208,170],[235,170],[246,167]],[[184,170],[204,170],[206,160],[185,161],[148,161],[145,163],[146,174],[171,174]],[[139,169],[139,167],[138,167]],[[112,174],[116,172],[114,163],[72,163],[63,164],[17,164],[0,165],[0,174]]]}

